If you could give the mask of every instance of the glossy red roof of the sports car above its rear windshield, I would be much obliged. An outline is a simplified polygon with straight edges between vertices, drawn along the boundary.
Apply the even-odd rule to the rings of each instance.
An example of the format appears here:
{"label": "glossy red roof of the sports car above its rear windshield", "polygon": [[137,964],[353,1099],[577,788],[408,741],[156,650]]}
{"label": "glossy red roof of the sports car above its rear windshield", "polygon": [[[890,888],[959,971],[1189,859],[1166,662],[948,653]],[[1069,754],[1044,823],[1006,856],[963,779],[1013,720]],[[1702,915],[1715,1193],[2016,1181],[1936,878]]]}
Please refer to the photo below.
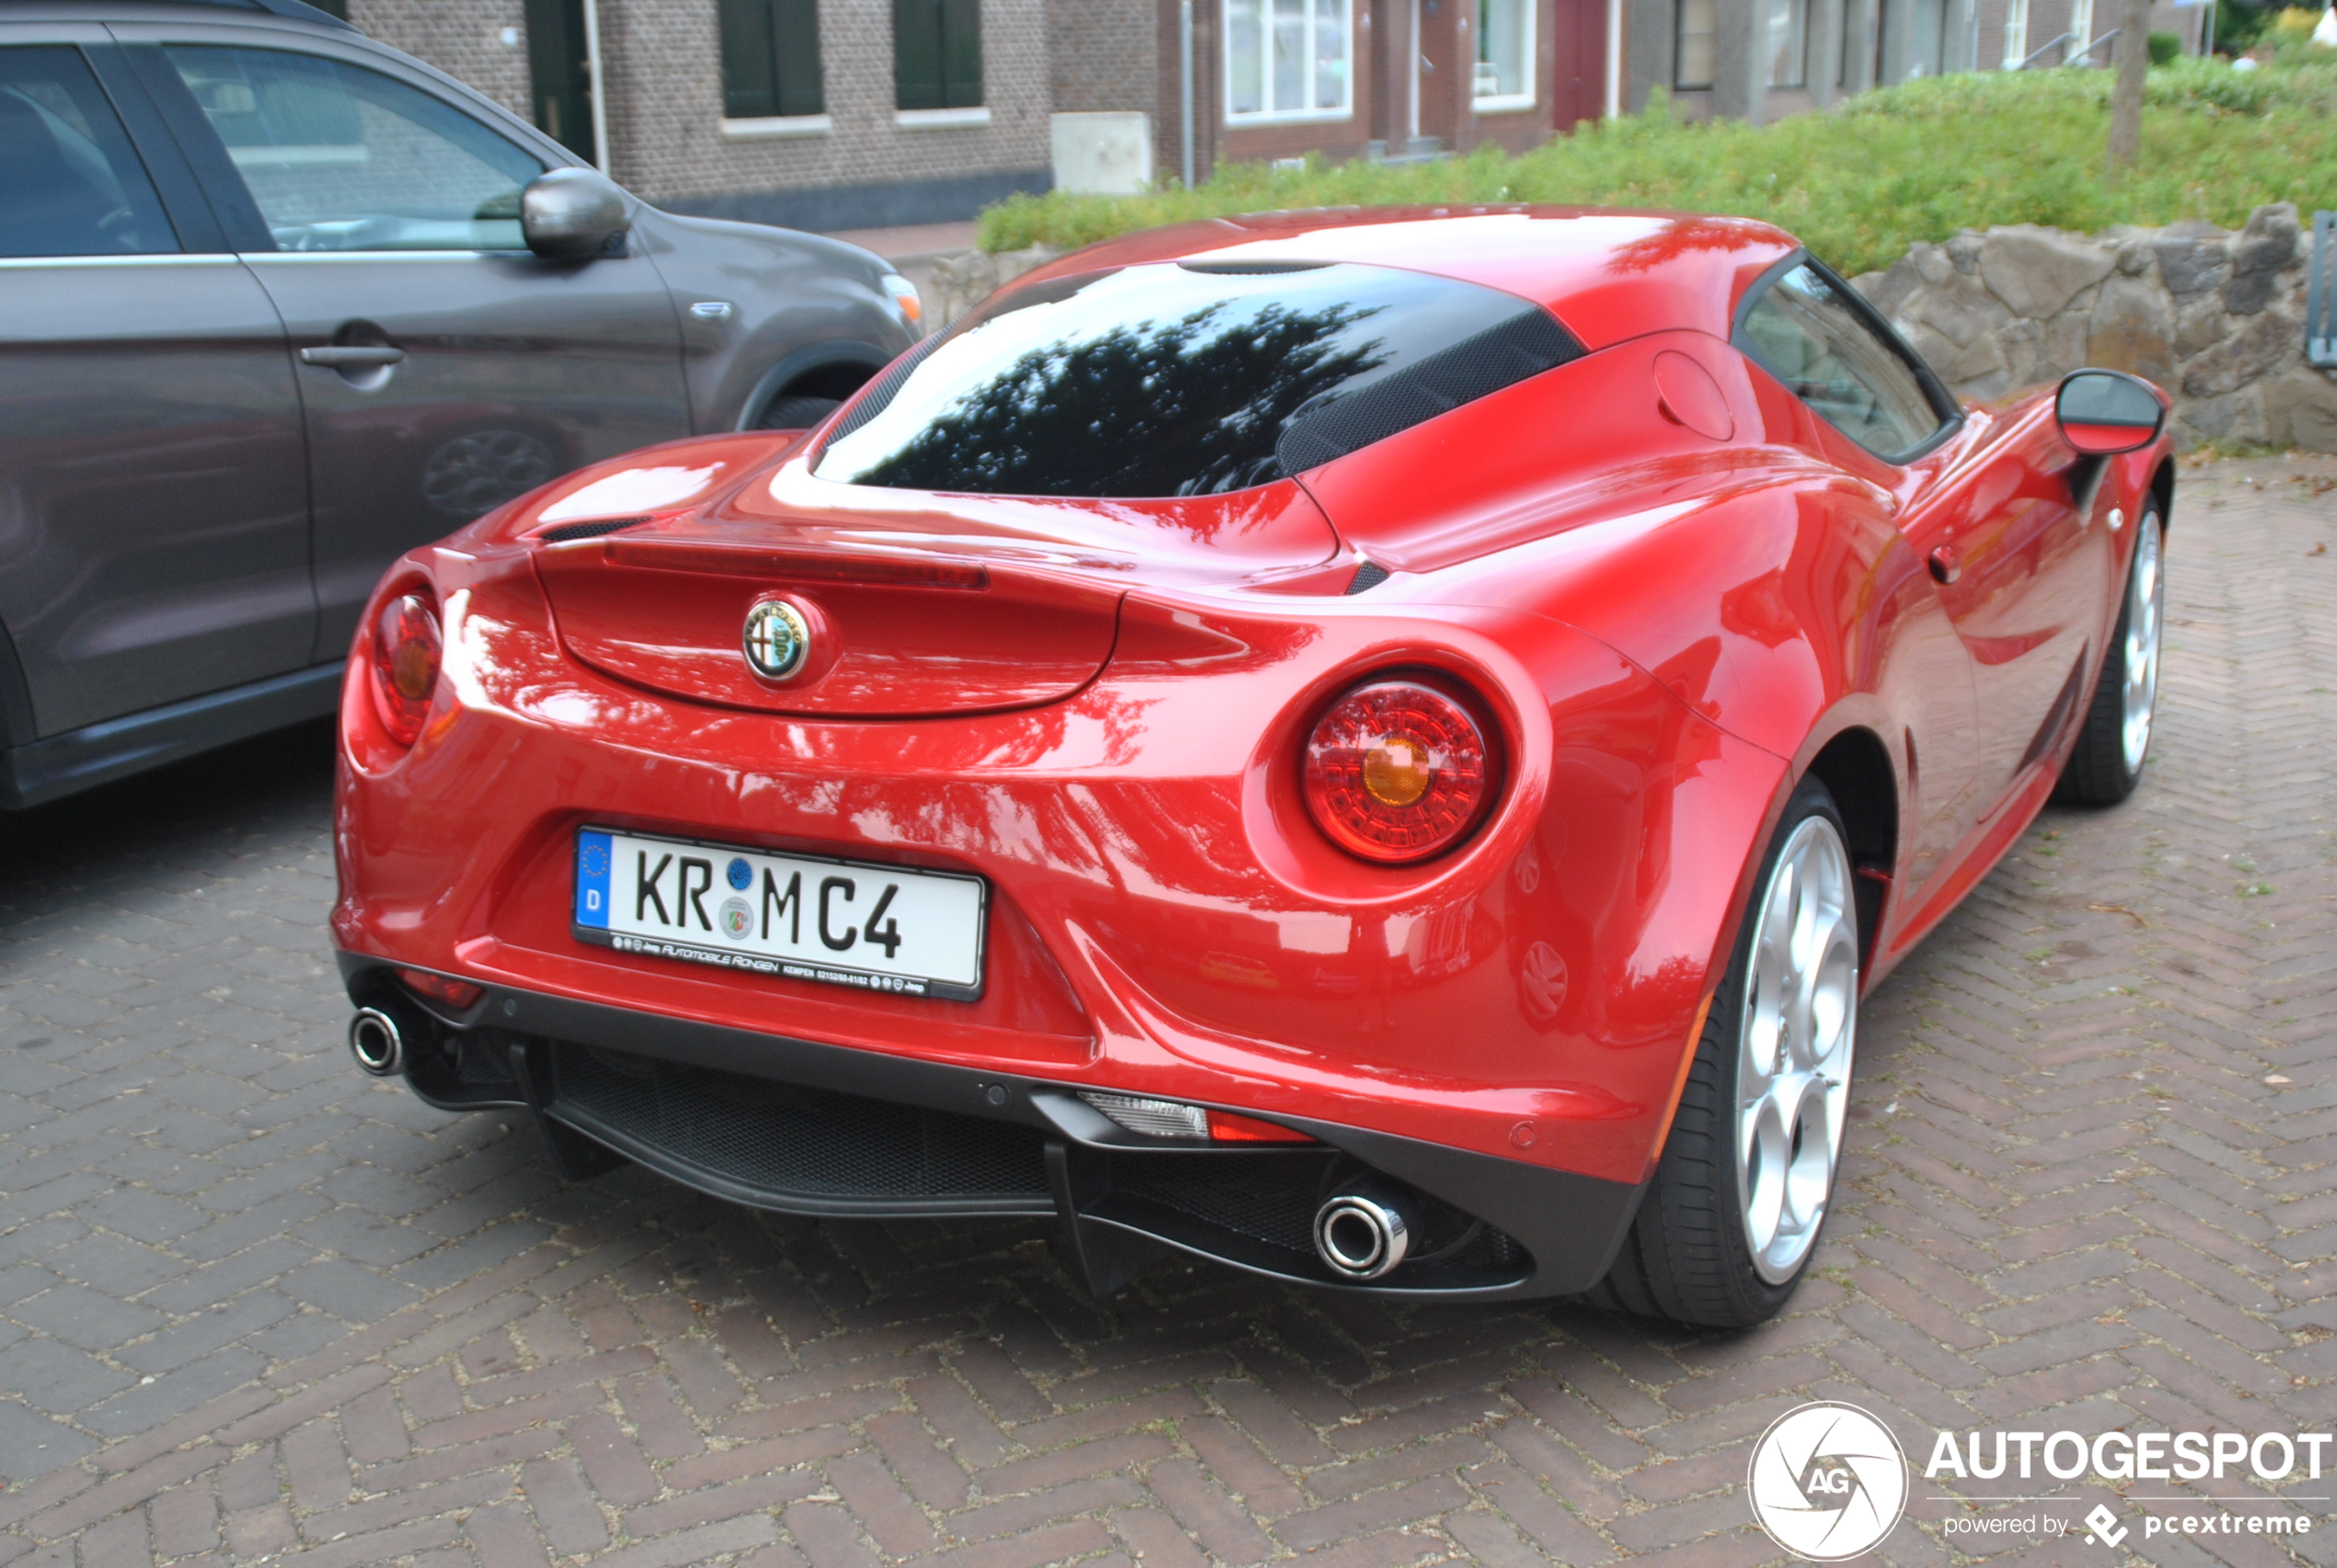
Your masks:
{"label": "glossy red roof of the sports car above its rear windshield", "polygon": [[1206,217],[1075,250],[1026,283],[1140,262],[1362,262],[1533,299],[1606,348],[1692,327],[1729,337],[1743,292],[1799,241],[1750,217],[1556,206],[1316,208]]}

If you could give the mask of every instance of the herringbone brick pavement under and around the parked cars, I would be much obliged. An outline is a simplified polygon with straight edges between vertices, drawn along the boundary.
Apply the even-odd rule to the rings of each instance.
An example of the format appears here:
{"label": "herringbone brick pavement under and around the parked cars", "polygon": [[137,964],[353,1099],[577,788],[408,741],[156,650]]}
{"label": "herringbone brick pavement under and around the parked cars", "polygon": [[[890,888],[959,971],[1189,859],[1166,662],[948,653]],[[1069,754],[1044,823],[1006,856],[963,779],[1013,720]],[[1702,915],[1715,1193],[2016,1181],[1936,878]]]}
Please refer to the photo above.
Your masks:
{"label": "herringbone brick pavement under and around the parked cars", "polygon": [[[1804,1397],[1919,1463],[2328,1430],[2337,467],[2297,467],[2185,474],[2150,778],[1874,998],[1816,1276],[1736,1337],[1213,1267],[1098,1309],[1040,1227],[561,1187],[348,1068],[323,731],[0,823],[0,1563],[1753,1563],[1750,1437]],[[2337,1563],[2325,1500],[2145,1535],[2269,1507],[2197,1491],[2239,1500],[2026,1510],[2117,1505],[2106,1552],[1951,1535],[1919,1479],[1881,1556]]]}

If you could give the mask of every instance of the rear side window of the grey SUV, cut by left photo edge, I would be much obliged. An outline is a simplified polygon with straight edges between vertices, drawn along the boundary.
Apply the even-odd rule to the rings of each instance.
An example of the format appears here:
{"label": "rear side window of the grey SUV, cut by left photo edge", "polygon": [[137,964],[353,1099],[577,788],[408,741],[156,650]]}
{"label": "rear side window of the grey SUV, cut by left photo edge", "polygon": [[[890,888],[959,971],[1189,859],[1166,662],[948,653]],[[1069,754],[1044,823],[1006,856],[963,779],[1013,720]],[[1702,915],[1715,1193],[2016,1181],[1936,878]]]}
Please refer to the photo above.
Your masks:
{"label": "rear side window of the grey SUV, cut by left photo edge", "polygon": [[178,250],[154,182],[79,49],[0,49],[0,257]]}

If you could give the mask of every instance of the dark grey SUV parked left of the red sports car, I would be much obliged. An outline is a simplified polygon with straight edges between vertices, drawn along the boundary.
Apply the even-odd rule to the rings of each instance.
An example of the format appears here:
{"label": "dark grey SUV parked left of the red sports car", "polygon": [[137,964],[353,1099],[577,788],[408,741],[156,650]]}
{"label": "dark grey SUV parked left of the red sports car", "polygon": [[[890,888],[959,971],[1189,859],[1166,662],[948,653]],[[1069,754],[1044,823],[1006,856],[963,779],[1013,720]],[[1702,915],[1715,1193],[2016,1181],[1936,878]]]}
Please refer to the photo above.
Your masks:
{"label": "dark grey SUV parked left of the red sports car", "polygon": [[0,804],[332,710],[400,551],[916,339],[575,164],[297,0],[0,0]]}

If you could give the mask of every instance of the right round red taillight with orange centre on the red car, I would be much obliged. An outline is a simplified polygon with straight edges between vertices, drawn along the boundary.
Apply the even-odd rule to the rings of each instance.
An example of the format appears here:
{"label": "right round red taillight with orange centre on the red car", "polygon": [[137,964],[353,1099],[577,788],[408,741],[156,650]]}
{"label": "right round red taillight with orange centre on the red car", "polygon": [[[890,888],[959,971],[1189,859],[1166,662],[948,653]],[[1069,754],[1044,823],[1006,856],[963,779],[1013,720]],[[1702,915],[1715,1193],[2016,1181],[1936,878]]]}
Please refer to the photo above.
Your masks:
{"label": "right round red taillight with orange centre on the red car", "polygon": [[1306,736],[1306,809],[1351,855],[1405,865],[1451,848],[1493,799],[1496,757],[1477,717],[1419,680],[1374,680]]}

